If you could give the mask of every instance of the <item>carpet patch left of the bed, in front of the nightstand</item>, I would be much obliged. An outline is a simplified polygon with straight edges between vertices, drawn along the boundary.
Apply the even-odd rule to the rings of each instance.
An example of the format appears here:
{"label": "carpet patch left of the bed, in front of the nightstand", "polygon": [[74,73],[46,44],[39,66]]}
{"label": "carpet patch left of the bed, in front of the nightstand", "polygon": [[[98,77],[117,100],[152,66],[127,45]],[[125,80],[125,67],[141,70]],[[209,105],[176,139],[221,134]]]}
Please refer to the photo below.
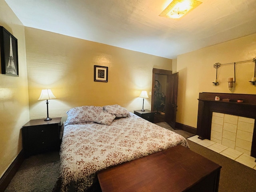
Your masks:
{"label": "carpet patch left of the bed, in front of the nightstand", "polygon": [[51,192],[59,176],[59,152],[25,159],[5,192]]}

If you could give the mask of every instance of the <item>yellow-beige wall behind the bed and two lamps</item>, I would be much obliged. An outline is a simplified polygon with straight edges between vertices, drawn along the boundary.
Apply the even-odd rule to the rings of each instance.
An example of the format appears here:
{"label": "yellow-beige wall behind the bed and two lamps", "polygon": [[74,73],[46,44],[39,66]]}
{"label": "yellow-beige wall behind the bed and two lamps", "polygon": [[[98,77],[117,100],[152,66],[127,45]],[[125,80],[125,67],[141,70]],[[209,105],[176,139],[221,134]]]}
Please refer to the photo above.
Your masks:
{"label": "yellow-beige wall behind the bed and two lamps", "polygon": [[[30,119],[46,117],[38,101],[51,88],[49,116],[63,117],[82,105],[119,104],[129,111],[142,108],[141,90],[149,94],[152,69],[172,69],[172,60],[25,27]],[[94,65],[108,66],[108,82],[94,82]],[[144,108],[150,109],[151,98]]]}

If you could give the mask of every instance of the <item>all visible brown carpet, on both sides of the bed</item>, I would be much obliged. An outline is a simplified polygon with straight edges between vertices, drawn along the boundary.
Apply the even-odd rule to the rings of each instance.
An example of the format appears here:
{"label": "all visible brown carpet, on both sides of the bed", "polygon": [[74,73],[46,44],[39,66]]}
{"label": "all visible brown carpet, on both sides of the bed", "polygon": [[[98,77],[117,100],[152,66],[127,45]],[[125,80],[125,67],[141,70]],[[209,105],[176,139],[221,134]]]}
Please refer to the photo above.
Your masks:
{"label": "all visible brown carpet, on both sides of the bed", "polygon": [[[173,130],[166,122],[156,124],[185,138],[194,136],[183,130]],[[222,166],[219,192],[256,192],[256,170],[190,140],[188,144],[192,151]],[[30,156],[24,160],[5,192],[51,192],[59,175],[59,160],[59,152]]]}

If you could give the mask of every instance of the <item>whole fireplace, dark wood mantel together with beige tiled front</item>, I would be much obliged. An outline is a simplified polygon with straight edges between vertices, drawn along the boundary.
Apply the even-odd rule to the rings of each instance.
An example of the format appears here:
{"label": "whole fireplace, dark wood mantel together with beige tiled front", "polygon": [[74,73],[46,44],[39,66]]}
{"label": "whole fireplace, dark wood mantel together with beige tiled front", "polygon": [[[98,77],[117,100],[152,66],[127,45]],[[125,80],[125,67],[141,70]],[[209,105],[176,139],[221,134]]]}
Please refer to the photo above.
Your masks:
{"label": "whole fireplace, dark wood mantel together with beige tiled front", "polygon": [[[215,101],[215,96],[220,96],[220,100]],[[222,100],[224,98],[229,102]],[[228,145],[256,158],[256,95],[202,92],[198,101],[196,134],[199,139]]]}

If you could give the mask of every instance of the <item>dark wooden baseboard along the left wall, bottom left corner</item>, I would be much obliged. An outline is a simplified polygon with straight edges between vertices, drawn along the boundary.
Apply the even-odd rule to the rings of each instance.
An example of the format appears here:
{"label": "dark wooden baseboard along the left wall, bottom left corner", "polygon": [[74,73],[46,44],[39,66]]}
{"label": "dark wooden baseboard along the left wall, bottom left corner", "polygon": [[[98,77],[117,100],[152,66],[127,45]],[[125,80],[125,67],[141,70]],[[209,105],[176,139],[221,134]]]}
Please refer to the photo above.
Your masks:
{"label": "dark wooden baseboard along the left wall, bottom left corner", "polygon": [[20,168],[24,159],[25,156],[22,149],[17,157],[14,159],[12,164],[8,167],[6,172],[3,174],[3,176],[0,178],[0,191],[4,191],[7,188],[8,184],[11,182],[12,178]]}

